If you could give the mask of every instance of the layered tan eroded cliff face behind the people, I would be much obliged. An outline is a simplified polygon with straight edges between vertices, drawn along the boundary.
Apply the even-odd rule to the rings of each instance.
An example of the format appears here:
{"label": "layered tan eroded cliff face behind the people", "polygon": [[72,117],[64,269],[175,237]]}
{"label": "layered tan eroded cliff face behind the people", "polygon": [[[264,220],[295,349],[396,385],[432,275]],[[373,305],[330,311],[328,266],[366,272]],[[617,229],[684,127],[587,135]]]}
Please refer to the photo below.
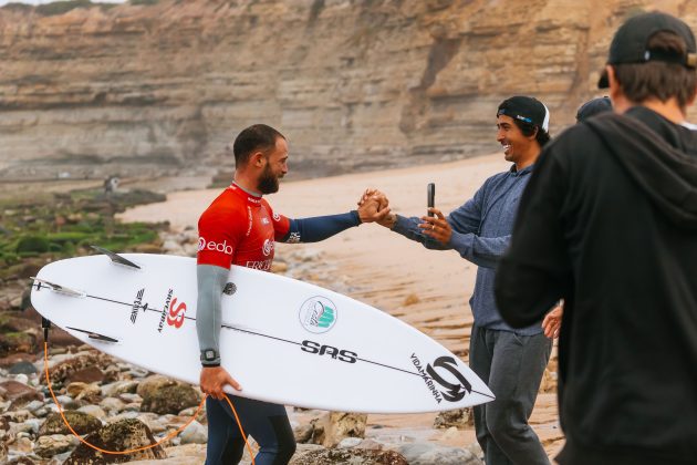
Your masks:
{"label": "layered tan eroded cliff face behind the people", "polygon": [[627,16],[697,30],[690,0],[144,3],[0,9],[0,179],[230,169],[257,122],[303,176],[490,153],[512,94],[570,124]]}

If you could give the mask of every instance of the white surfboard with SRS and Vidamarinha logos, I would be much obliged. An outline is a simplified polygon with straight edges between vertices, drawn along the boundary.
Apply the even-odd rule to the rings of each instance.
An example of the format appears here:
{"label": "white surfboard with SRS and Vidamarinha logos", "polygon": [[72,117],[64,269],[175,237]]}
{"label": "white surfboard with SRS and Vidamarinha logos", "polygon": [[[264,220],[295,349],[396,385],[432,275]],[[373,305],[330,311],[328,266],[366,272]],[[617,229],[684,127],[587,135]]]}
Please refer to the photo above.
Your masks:
{"label": "white surfboard with SRS and Vidamarinha logos", "polygon": [[[124,254],[43,267],[31,301],[85,343],[198,384],[196,260]],[[222,294],[222,366],[242,386],[228,392],[309,409],[434,412],[493,400],[456,355],[403,321],[306,282],[232,267]]]}

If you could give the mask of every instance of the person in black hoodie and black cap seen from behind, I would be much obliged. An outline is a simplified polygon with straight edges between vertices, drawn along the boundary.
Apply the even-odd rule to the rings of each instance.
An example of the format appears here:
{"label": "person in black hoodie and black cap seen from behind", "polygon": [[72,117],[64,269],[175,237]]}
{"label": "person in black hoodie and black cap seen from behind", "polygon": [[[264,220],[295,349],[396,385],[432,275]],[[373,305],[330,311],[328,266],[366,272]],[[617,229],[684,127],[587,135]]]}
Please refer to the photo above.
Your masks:
{"label": "person in black hoodie and black cap seen from behind", "polygon": [[599,83],[614,113],[542,152],[497,270],[514,328],[564,299],[563,465],[697,463],[696,66],[677,18],[617,30]]}

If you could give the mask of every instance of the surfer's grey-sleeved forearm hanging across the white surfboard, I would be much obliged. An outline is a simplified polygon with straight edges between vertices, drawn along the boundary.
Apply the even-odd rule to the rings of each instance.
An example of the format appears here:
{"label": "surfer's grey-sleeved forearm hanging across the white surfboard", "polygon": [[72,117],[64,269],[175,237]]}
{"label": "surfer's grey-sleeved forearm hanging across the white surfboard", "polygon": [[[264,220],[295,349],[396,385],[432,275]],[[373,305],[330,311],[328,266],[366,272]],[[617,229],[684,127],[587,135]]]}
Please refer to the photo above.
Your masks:
{"label": "surfer's grey-sleeved forearm hanging across the white surfboard", "polygon": [[198,265],[198,301],[196,333],[204,366],[220,365],[220,323],[222,319],[222,290],[229,270],[214,265]]}

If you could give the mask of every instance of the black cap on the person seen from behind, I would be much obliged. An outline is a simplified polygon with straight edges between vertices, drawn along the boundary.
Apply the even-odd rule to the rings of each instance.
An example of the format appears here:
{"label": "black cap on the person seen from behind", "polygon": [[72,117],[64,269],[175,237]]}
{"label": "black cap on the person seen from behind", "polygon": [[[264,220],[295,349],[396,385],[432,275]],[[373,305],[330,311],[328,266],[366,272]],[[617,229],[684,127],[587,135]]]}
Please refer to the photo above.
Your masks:
{"label": "black cap on the person seen from behind", "polygon": [[[676,55],[664,51],[649,50],[647,46],[648,40],[656,32],[662,31],[673,32],[683,39],[687,45],[687,53],[685,55]],[[685,68],[697,68],[695,34],[682,20],[659,11],[630,18],[620,27],[612,39],[607,64],[646,63],[649,61],[666,61],[682,64]],[[606,71],[603,71],[601,74],[597,86],[599,89],[610,86]]]}

